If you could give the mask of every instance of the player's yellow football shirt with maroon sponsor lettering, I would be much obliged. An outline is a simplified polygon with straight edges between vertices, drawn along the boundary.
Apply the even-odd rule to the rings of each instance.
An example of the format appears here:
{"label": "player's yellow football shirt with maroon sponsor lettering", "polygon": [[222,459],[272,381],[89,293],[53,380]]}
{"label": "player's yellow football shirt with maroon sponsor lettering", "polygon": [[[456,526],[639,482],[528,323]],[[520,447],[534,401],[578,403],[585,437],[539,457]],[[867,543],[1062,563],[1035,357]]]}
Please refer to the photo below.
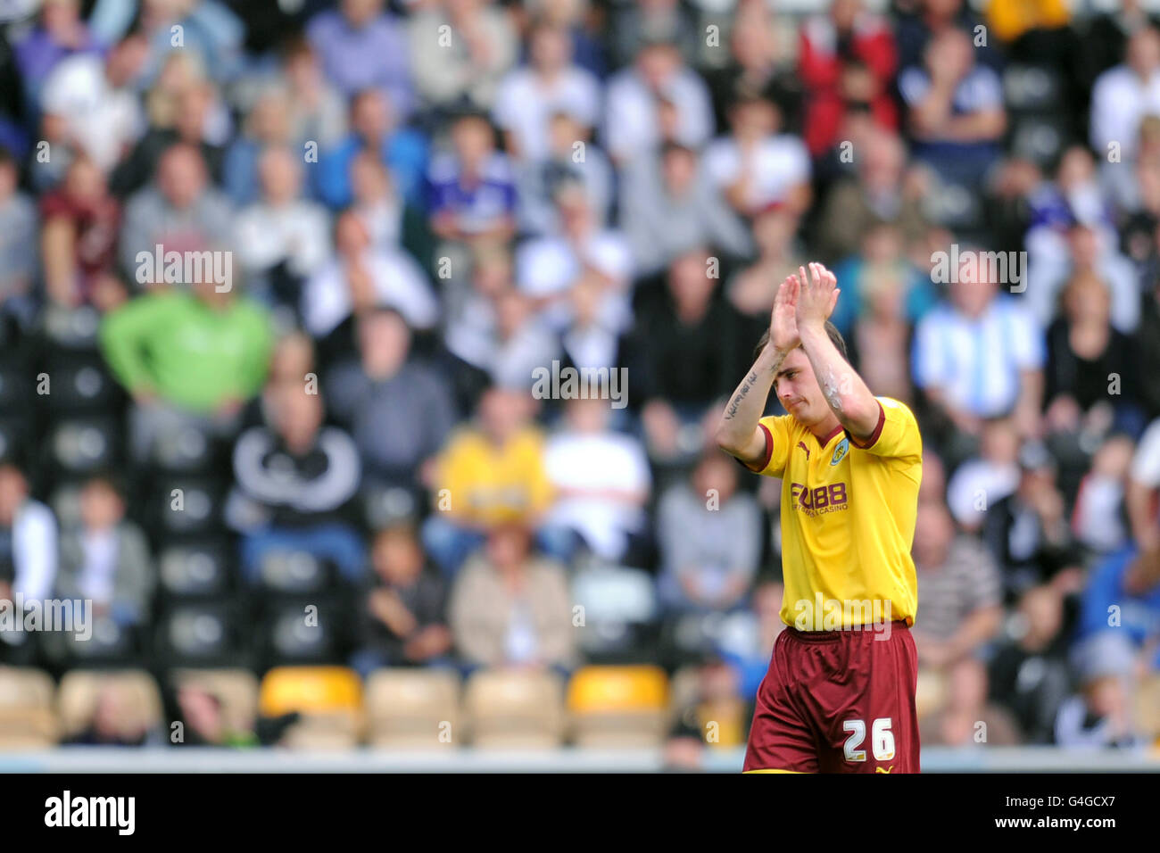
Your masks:
{"label": "player's yellow football shirt with maroon sponsor lettering", "polygon": [[789,414],[759,421],[766,460],[751,470],[782,478],[781,616],[800,630],[914,623],[922,436],[905,404],[876,399],[878,426],[864,446],[842,427],[819,440]]}

